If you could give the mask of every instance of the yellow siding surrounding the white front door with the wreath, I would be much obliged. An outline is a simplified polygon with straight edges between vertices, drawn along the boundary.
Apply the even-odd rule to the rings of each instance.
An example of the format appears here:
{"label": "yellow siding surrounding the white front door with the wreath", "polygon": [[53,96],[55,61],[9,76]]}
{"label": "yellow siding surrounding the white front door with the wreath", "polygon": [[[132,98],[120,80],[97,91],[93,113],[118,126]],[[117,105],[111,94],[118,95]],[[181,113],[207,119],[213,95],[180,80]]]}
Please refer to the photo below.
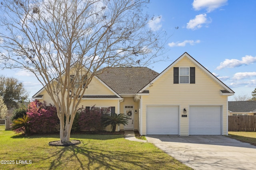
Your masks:
{"label": "yellow siding surrounding the white front door with the wreath", "polygon": [[[138,130],[138,102],[134,102],[134,97],[124,97],[124,101],[120,103],[120,113],[124,113],[124,106],[133,106],[134,130]],[[137,110],[137,113],[135,113],[135,110]],[[120,130],[124,130],[124,125],[120,125]]]}

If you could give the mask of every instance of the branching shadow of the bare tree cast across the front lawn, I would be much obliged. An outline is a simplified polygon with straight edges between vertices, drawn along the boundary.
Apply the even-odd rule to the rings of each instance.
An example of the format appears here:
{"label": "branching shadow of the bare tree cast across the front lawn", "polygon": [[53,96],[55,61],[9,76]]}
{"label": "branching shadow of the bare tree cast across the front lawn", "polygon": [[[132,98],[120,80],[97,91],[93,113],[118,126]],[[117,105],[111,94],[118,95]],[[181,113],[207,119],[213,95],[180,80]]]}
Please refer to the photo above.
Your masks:
{"label": "branching shadow of the bare tree cast across the front lawn", "polygon": [[[148,153],[140,153],[137,151],[110,151],[107,149],[92,149],[85,145],[79,147],[78,145],[63,147],[55,152],[52,156],[56,158],[50,163],[49,169],[52,170],[63,166],[67,152],[72,153],[71,155],[69,154],[71,160],[68,161],[75,161],[76,164],[79,164],[79,167],[76,166],[75,168],[79,169],[130,169],[132,166],[140,167],[140,169],[152,169],[150,165],[161,163],[157,161],[157,159],[147,156],[156,151],[150,151]],[[150,164],[146,165],[145,162],[150,162]],[[68,164],[68,162],[65,163]],[[129,168],[127,165],[131,167]]]}

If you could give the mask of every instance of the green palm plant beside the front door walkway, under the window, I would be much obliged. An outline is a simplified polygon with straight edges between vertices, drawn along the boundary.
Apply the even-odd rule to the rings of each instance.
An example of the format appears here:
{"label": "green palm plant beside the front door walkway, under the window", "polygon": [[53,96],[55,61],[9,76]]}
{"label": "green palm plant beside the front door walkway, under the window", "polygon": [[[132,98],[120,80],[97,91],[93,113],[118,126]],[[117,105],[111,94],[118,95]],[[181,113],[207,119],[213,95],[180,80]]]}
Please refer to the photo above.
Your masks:
{"label": "green palm plant beside the front door walkway, under the window", "polygon": [[116,125],[128,125],[127,116],[124,114],[116,114],[111,113],[111,115],[107,115],[104,117],[104,124],[111,125],[112,132],[116,131]]}

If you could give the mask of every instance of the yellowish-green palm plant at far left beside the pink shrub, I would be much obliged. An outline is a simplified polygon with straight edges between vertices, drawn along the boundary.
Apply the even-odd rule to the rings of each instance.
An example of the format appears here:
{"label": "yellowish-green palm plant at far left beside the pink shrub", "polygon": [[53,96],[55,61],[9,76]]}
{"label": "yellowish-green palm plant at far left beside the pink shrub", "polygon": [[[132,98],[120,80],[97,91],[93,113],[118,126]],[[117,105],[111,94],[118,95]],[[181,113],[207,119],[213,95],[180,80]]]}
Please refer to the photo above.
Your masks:
{"label": "yellowish-green palm plant at far left beside the pink shrub", "polygon": [[30,118],[28,115],[14,119],[12,123],[12,130],[16,133],[30,134]]}

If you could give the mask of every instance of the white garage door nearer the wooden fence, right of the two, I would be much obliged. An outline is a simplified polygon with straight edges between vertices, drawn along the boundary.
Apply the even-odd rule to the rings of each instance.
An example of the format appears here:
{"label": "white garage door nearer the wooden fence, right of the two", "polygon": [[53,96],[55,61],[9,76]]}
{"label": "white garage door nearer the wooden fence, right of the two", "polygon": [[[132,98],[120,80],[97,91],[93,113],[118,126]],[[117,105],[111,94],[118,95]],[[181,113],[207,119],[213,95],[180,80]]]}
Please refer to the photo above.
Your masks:
{"label": "white garage door nearer the wooden fence, right of the two", "polygon": [[190,106],[190,135],[221,135],[221,106]]}

